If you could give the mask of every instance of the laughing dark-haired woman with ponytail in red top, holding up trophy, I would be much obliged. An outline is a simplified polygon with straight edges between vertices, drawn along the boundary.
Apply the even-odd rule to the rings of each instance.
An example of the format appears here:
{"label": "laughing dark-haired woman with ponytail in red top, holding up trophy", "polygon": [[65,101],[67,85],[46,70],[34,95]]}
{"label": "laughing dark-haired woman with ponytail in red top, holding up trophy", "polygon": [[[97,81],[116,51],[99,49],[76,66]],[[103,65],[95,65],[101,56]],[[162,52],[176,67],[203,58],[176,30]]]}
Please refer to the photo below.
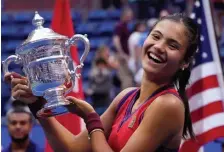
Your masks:
{"label": "laughing dark-haired woman with ponytail in red top, holding up trophy", "polygon": [[[54,118],[39,118],[52,148],[78,152],[177,152],[182,137],[194,138],[185,88],[198,37],[197,25],[185,15],[161,18],[143,45],[144,74],[139,88],[119,93],[101,117],[87,102],[68,97],[73,103],[68,107],[70,112],[82,117],[87,126],[77,136]],[[10,77],[13,73],[5,76]],[[32,97],[29,107],[35,114],[40,106],[34,102],[37,98],[34,100],[30,94],[24,78],[13,78],[11,83],[14,98],[27,99],[28,94]]]}

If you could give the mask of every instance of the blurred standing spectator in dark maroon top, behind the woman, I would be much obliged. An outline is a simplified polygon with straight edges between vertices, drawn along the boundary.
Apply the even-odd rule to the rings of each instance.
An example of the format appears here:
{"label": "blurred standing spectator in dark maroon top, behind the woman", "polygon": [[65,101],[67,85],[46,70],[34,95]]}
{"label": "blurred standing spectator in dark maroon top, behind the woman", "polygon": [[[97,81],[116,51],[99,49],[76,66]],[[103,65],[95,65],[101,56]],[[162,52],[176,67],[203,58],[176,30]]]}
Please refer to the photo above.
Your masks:
{"label": "blurred standing spectator in dark maroon top, behind the woman", "polygon": [[128,23],[133,19],[133,11],[130,8],[124,8],[121,14],[120,22],[116,25],[113,36],[113,43],[118,53],[119,68],[118,76],[121,80],[121,89],[133,86],[133,75],[128,68],[129,50],[128,38],[130,31]]}

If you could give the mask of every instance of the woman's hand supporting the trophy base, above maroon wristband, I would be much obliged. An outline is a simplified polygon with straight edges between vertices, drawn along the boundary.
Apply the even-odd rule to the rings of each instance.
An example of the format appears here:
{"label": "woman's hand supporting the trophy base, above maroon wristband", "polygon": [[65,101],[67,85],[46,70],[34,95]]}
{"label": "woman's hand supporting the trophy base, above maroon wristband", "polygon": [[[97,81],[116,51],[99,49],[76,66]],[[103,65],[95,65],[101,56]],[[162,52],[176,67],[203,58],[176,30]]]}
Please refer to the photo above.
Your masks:
{"label": "woman's hand supporting the trophy base, above maroon wristband", "polygon": [[66,100],[70,102],[70,105],[67,106],[68,110],[83,119],[85,119],[89,113],[95,112],[93,107],[86,101],[71,96],[66,97]]}

